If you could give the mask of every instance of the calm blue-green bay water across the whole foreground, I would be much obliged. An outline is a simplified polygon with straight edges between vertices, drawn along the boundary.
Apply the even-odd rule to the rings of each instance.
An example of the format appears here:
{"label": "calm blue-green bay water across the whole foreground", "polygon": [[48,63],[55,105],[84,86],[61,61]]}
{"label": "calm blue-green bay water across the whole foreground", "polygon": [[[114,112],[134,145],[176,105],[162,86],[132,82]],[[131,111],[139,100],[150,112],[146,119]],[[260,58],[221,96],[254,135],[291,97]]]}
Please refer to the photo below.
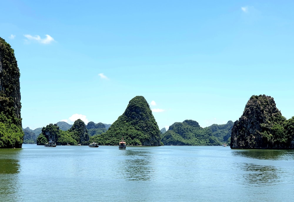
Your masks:
{"label": "calm blue-green bay water across the whole foreground", "polygon": [[294,201],[294,150],[23,145],[0,150],[0,201]]}

